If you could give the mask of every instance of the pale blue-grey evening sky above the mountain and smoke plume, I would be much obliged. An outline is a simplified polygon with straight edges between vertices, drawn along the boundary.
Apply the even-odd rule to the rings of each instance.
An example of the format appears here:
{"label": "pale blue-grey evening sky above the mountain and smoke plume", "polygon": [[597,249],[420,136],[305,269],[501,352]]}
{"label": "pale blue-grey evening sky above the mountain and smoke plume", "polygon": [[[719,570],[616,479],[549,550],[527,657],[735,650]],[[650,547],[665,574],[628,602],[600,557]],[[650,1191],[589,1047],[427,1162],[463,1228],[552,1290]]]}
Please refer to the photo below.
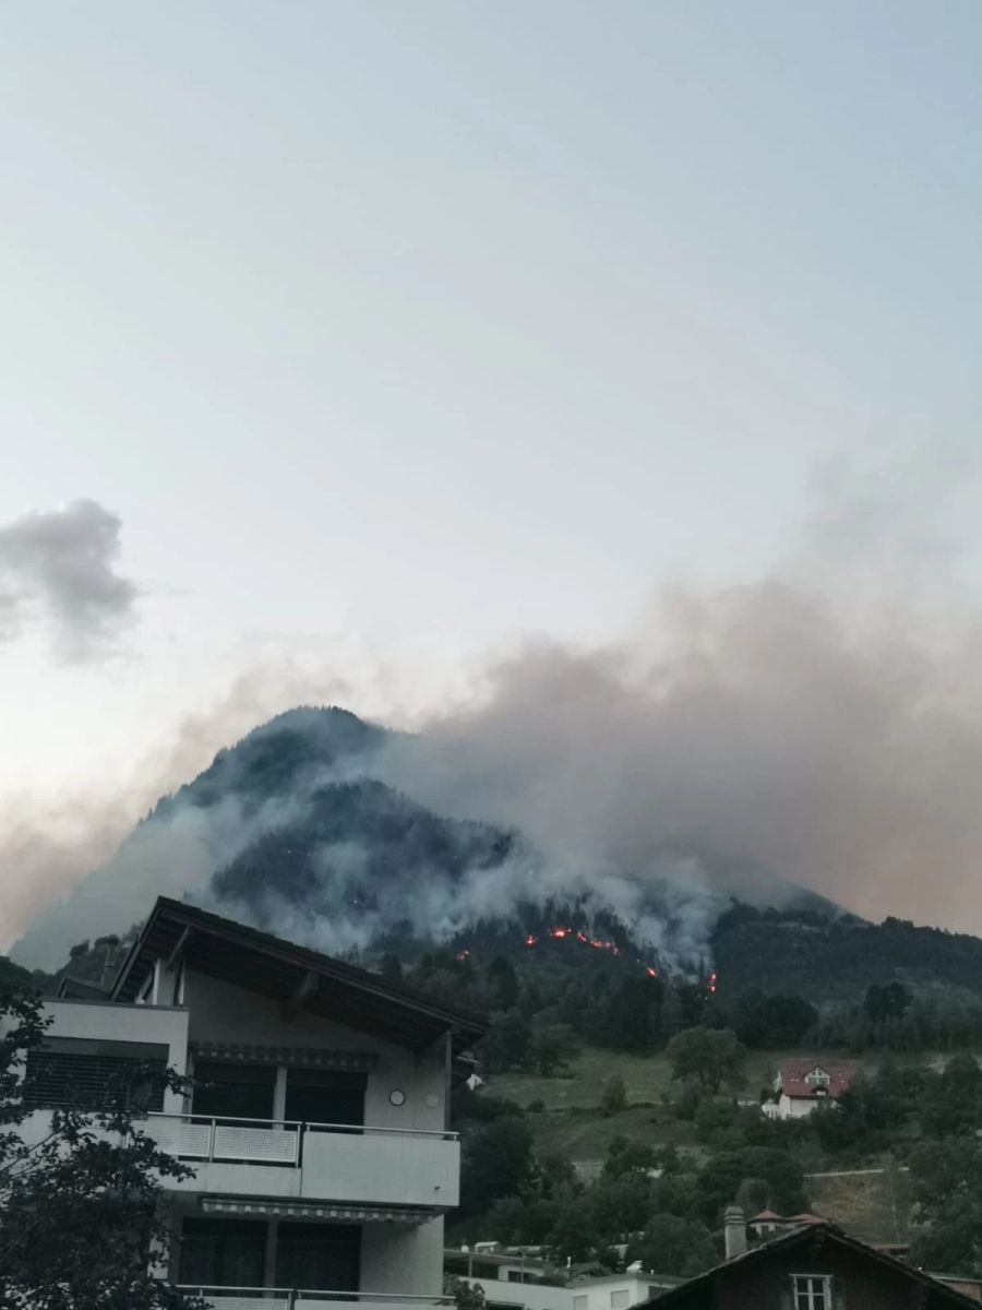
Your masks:
{"label": "pale blue-grey evening sky above the mountain and smoke plume", "polygon": [[755,578],[829,461],[931,452],[972,588],[979,55],[975,0],[8,8],[0,942],[25,824]]}

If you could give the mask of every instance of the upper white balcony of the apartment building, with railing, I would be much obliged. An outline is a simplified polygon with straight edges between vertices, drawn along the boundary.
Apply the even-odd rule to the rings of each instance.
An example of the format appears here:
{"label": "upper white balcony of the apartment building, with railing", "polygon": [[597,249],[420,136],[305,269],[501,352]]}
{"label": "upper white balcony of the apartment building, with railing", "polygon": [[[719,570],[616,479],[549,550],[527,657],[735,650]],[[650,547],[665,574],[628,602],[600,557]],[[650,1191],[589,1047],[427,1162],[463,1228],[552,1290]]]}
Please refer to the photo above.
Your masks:
{"label": "upper white balcony of the apartment building, with railing", "polygon": [[149,1115],[144,1131],[196,1165],[173,1184],[182,1191],[437,1210],[458,1200],[457,1133],[202,1115]]}

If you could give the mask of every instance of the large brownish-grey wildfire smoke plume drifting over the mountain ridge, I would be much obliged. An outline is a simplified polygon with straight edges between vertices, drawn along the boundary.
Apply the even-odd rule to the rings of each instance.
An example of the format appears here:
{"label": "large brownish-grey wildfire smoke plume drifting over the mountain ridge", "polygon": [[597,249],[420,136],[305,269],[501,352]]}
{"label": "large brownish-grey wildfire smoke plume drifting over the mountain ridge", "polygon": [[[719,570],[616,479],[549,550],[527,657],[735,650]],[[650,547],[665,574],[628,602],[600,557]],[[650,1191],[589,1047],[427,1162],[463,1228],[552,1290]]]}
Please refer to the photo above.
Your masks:
{"label": "large brownish-grey wildfire smoke plume drifting over the mountain ridge", "polygon": [[[982,627],[926,525],[937,487],[922,473],[884,485],[833,469],[767,576],[665,588],[623,641],[529,642],[487,669],[470,700],[361,768],[437,815],[525,840],[453,883],[414,879],[376,917],[338,908],[364,850],[325,845],[319,917],[271,896],[263,926],[339,950],[398,917],[449,933],[522,899],[587,892],[672,952],[704,943],[728,893],[780,903],[797,883],[869,917],[982,931]],[[275,677],[253,681],[268,692],[257,709],[284,705]],[[323,698],[302,679],[289,690]],[[199,766],[233,719],[198,734]],[[135,842],[56,931],[42,916],[31,935],[126,927],[164,889],[208,901],[211,874],[285,814],[268,806],[246,824],[225,807],[219,827],[182,823],[170,846],[158,832],[152,854]]]}

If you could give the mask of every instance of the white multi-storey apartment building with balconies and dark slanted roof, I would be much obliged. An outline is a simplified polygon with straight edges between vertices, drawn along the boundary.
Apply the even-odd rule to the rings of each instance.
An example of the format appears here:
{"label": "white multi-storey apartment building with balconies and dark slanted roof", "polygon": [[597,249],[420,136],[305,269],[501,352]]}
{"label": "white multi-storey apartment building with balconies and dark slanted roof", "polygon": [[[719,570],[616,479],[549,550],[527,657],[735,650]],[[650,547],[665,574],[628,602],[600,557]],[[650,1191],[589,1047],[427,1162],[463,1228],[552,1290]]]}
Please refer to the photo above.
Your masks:
{"label": "white multi-storey apartment building with balconies and dark slanted roof", "polygon": [[460,1183],[450,1079],[479,1019],[164,897],[105,1000],[47,1010],[31,1136],[127,1061],[195,1078],[190,1102],[161,1094],[145,1125],[195,1169],[169,1184],[172,1282],[216,1310],[441,1300]]}

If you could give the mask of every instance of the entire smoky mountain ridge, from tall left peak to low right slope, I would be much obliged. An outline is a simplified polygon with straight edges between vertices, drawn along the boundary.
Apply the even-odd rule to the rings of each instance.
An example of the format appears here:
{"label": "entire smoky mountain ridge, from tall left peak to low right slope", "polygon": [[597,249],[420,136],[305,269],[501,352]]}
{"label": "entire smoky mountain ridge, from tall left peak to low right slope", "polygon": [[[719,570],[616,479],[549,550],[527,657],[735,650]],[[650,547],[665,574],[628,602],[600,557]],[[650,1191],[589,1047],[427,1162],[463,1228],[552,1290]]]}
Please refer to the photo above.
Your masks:
{"label": "entire smoky mountain ridge, from tall left peak to low right slope", "polygon": [[871,925],[773,871],[706,852],[685,861],[668,844],[664,865],[682,872],[564,862],[481,815],[439,814],[407,794],[426,765],[418,741],[338,707],[278,715],[164,796],[13,956],[51,968],[98,938],[89,964],[102,976],[120,948],[107,934],[126,938],[162,892],[330,952],[508,954],[567,926],[660,968],[712,959],[728,990],[821,996],[901,976],[982,990],[978,939]]}

